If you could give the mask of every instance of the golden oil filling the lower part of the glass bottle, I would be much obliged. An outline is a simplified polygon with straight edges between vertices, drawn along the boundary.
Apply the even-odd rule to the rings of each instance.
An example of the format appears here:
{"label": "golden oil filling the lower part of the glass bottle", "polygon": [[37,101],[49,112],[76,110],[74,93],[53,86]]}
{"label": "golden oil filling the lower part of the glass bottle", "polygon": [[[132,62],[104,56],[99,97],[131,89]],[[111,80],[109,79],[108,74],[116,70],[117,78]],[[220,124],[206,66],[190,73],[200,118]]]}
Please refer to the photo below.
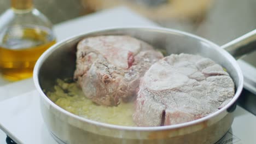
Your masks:
{"label": "golden oil filling the lower part of the glass bottle", "polygon": [[51,45],[55,37],[44,27],[14,26],[0,33],[0,70],[5,79],[16,81],[33,75],[37,59]]}

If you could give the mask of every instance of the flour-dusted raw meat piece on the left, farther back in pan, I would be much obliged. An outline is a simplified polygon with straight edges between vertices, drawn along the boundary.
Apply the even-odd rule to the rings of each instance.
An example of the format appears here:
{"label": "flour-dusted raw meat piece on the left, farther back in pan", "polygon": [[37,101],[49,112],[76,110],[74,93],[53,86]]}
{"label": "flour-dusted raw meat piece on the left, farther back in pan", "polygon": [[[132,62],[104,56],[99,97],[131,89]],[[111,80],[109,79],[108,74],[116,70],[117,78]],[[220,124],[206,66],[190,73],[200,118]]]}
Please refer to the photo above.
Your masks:
{"label": "flour-dusted raw meat piece on the left, farther back in pan", "polygon": [[95,103],[118,105],[136,97],[140,78],[162,57],[149,44],[125,35],[85,38],[77,46],[74,80]]}

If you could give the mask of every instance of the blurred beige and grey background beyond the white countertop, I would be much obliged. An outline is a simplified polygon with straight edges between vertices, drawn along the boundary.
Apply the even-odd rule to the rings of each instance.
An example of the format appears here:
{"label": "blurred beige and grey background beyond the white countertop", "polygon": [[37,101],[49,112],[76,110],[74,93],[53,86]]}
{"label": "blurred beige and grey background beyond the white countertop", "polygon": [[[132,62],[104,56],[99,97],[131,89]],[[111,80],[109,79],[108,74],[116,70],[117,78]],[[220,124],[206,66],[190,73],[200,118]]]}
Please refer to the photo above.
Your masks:
{"label": "blurred beige and grey background beyond the white countertop", "polygon": [[[0,1],[0,14],[9,8]],[[160,26],[180,29],[218,45],[256,28],[256,0],[34,0],[34,7],[54,24],[125,5]],[[244,57],[254,62],[256,52]]]}

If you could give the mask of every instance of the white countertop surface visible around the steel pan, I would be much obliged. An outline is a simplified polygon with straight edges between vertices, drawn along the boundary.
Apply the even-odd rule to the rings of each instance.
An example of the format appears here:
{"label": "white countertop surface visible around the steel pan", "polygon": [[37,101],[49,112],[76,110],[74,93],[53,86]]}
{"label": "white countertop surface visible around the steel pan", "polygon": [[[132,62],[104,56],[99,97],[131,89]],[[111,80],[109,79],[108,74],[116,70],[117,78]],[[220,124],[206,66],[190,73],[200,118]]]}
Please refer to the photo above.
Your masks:
{"label": "white countertop surface visible around the steel pan", "polygon": [[[125,19],[124,19],[125,17]],[[120,7],[79,17],[54,26],[57,41],[98,28],[115,26],[155,26],[132,11]],[[39,110],[38,93],[32,79],[10,83],[0,79],[0,128],[18,143],[56,143],[45,128]],[[256,117],[237,106],[235,120],[223,140],[236,139],[236,144],[254,143]],[[29,135],[28,135],[29,134]],[[0,130],[0,143],[6,135]],[[230,143],[228,143],[230,144]]]}

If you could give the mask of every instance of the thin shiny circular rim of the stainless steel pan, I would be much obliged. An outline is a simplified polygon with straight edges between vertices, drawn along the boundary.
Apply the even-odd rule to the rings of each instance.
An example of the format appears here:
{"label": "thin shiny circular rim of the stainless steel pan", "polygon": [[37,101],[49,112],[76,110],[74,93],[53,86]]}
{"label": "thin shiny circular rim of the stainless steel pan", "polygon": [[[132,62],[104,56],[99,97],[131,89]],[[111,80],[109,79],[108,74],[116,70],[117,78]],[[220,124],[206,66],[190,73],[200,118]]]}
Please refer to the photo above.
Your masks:
{"label": "thin shiny circular rim of the stainless steel pan", "polygon": [[[114,125],[114,124],[108,124],[108,123],[102,123],[102,122],[97,122],[97,121],[93,121],[90,119],[86,119],[77,115],[74,115],[71,112],[68,112],[64,109],[62,109],[60,106],[57,106],[53,101],[51,101],[46,94],[44,94],[42,88],[39,85],[39,79],[38,79],[38,74],[39,74],[39,70],[40,70],[40,66],[43,64],[43,62],[45,61],[46,58],[48,58],[48,56],[51,54],[51,52],[53,52],[54,49],[56,49],[57,47],[61,47],[61,45],[67,43],[68,41],[72,41],[74,39],[78,39],[78,38],[83,38],[86,37],[86,35],[90,35],[93,33],[100,33],[100,32],[104,32],[104,31],[112,31],[112,30],[129,30],[129,29],[143,29],[144,31],[160,31],[160,32],[165,32],[165,33],[176,33],[176,34],[182,34],[182,35],[187,35],[189,37],[193,37],[195,39],[204,41],[207,44],[210,44],[212,47],[214,47],[214,49],[216,49],[217,51],[220,51],[223,53],[223,55],[229,59],[230,63],[234,66],[234,68],[236,69],[236,73],[238,74],[238,85],[236,86],[236,92],[234,97],[231,99],[231,101],[229,101],[228,104],[226,104],[222,109],[211,113],[210,115],[207,115],[205,117],[196,119],[194,121],[190,121],[190,122],[185,122],[185,123],[181,123],[181,124],[174,124],[174,125],[166,125],[166,126],[159,126],[159,127],[129,127],[129,126],[122,126],[122,125]],[[72,117],[74,119],[77,119],[78,121],[82,121],[82,122],[86,122],[86,123],[90,123],[90,124],[95,124],[101,127],[105,127],[105,128],[110,128],[110,129],[119,129],[119,130],[132,130],[132,131],[158,131],[158,130],[170,130],[170,129],[177,129],[177,128],[183,128],[183,127],[189,127],[191,125],[195,125],[204,121],[207,121],[208,119],[211,119],[213,117],[216,117],[217,115],[219,115],[222,112],[226,112],[226,109],[228,109],[232,104],[235,103],[235,101],[238,99],[238,97],[240,96],[242,89],[243,89],[243,75],[242,75],[242,71],[237,63],[237,61],[235,60],[234,57],[232,57],[230,55],[230,53],[228,53],[227,51],[223,50],[223,49],[218,49],[220,46],[218,46],[217,44],[214,44],[212,41],[207,40],[205,38],[201,38],[197,35],[191,34],[191,33],[187,33],[187,32],[183,32],[183,31],[179,31],[176,29],[170,29],[170,28],[161,28],[161,27],[108,27],[108,28],[101,28],[101,29],[96,29],[96,30],[92,30],[86,33],[82,33],[82,34],[78,34],[75,35],[71,38],[67,38],[64,39],[62,41],[60,41],[59,43],[56,43],[55,45],[51,46],[48,50],[46,50],[42,56],[39,57],[34,70],[33,70],[33,81],[34,81],[34,85],[36,86],[37,91],[40,94],[40,97],[43,98],[44,101],[46,101],[49,105],[51,105],[52,107],[54,107],[54,109],[60,111],[61,113]],[[41,100],[41,99],[40,99]]]}

